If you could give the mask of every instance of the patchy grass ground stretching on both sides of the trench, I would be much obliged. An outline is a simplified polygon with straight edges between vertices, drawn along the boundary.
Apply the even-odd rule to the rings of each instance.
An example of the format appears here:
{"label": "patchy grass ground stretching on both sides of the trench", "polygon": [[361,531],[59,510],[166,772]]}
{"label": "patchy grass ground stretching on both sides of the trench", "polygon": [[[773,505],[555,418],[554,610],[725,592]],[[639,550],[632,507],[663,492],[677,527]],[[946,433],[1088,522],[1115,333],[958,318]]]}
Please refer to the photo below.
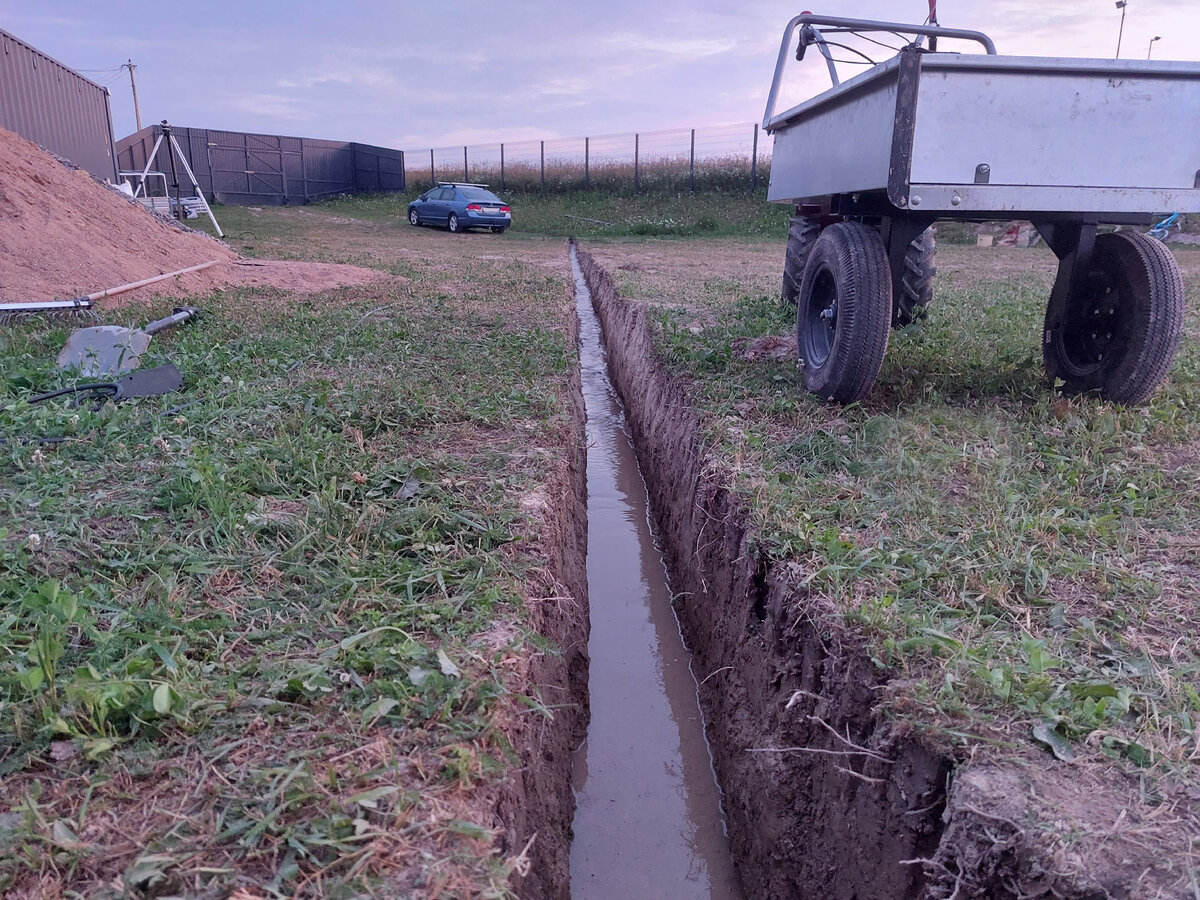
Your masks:
{"label": "patchy grass ground stretching on both sides of the trench", "polygon": [[1195,782],[1200,254],[1145,407],[1043,383],[1044,248],[943,244],[929,319],[844,409],[745,353],[792,328],[786,208],[511,202],[504,235],[401,197],[217,208],[246,254],[394,277],[196,298],[146,358],[182,395],[30,404],[71,324],[0,331],[0,889],[504,894],[504,716],[553,715],[511,666],[547,650],[523,601],[571,433],[566,234],[652,308],[761,552],[870,641],[889,715]]}

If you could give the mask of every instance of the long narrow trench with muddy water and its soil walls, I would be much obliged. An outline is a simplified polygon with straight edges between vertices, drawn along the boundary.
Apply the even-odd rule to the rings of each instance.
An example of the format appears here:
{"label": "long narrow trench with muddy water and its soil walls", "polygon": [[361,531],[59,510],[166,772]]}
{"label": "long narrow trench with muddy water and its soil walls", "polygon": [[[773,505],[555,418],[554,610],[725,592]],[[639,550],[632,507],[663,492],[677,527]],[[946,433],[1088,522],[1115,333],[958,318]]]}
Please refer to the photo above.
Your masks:
{"label": "long narrow trench with muddy water and its soil walls", "polygon": [[[853,623],[798,583],[796,560],[773,560],[760,545],[746,503],[704,446],[688,385],[658,356],[646,307],[622,298],[587,252],[572,246],[571,264],[582,382],[572,402],[588,448],[587,486],[582,448],[572,457],[576,551],[563,562],[576,596],[587,570],[589,602],[575,608],[589,610],[592,661],[588,677],[581,620],[564,656],[581,715],[559,726],[553,752],[540,744],[550,768],[527,769],[552,781],[564,814],[527,823],[554,839],[545,853],[554,868],[544,893],[522,895],[1150,896],[1129,887],[1153,869],[1148,847],[1135,863],[1122,845],[1120,858],[1064,865],[1058,845],[1024,827],[1039,816],[1060,822],[1062,772],[974,749],[964,761],[919,724],[881,712],[902,680],[877,665]],[[592,725],[574,758],[572,798],[568,748],[583,739],[587,692]]]}

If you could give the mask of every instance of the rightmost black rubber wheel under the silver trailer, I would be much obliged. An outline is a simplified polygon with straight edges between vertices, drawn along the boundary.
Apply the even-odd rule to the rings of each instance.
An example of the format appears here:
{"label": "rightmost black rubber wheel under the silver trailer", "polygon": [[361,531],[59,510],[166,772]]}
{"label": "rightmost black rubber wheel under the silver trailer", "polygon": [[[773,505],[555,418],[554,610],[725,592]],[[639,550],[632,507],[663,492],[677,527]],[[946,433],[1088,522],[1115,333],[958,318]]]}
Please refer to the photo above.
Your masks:
{"label": "rightmost black rubber wheel under the silver trailer", "polygon": [[1082,296],[1043,335],[1063,392],[1141,403],[1166,378],[1183,332],[1183,276],[1163,244],[1138,232],[1096,235]]}

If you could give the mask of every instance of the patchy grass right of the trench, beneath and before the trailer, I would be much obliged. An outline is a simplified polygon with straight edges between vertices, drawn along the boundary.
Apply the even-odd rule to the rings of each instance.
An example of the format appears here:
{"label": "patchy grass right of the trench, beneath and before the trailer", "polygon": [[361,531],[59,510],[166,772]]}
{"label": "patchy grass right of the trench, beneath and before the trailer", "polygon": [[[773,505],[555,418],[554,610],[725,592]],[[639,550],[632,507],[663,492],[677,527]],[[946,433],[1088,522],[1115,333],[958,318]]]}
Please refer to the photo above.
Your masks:
{"label": "patchy grass right of the trench, beneath and before the trailer", "polygon": [[[628,250],[598,256],[613,270]],[[1200,280],[1186,264],[1195,335]],[[990,734],[1190,772],[1194,342],[1145,407],[1056,397],[1037,335],[1052,257],[943,247],[928,322],[893,335],[874,395],[842,409],[805,395],[794,359],[738,352],[792,328],[773,274],[757,293],[730,289],[714,260],[697,270],[709,289],[682,283],[664,300],[660,276],[691,269],[661,265],[619,266],[623,292],[654,308],[760,551],[799,563],[796,589],[830,601],[900,679],[893,715],[955,743]]]}

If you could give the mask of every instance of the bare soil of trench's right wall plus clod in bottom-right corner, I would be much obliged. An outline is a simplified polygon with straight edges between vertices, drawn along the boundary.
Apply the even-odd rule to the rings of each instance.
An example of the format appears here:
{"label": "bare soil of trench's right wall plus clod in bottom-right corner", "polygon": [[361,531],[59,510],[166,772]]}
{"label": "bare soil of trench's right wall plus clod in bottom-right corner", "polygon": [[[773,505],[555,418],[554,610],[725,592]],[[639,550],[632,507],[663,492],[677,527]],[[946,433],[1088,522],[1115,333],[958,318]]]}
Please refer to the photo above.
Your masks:
{"label": "bare soil of trench's right wall plus clod in bottom-right corner", "polygon": [[1150,804],[1118,772],[980,745],[956,754],[877,714],[904,685],[797,587],[796,563],[764,562],[644,308],[589,254],[580,263],[680,598],[746,895],[1193,896],[1172,863],[1196,834],[1186,787]]}

